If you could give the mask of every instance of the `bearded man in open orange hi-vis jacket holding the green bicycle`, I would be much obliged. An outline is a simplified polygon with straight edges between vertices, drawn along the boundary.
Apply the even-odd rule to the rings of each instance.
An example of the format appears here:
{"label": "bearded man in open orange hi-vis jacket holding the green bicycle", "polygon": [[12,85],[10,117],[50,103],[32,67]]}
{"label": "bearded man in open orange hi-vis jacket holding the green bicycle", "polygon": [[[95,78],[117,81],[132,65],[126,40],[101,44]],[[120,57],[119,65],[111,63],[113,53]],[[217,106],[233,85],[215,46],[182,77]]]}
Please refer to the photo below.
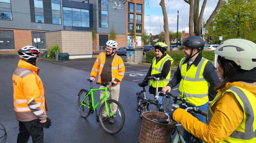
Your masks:
{"label": "bearded man in open orange hi-vis jacket holding the green bicycle", "polygon": [[[98,82],[109,83],[112,82],[111,86],[108,86],[108,96],[111,95],[111,98],[118,101],[119,92],[120,92],[120,83],[125,75],[125,65],[121,57],[115,54],[117,48],[117,43],[113,40],[109,40],[106,43],[106,52],[102,52],[97,57],[93,65],[91,72],[90,80],[94,81],[97,74]],[[104,86],[100,86],[104,88]],[[100,90],[100,98],[105,94],[104,90]],[[101,104],[104,100],[101,101]],[[114,113],[116,111],[114,110]],[[106,112],[102,113],[102,116],[107,116]],[[97,118],[98,120],[98,118]],[[111,118],[109,123],[114,123],[115,119]]]}

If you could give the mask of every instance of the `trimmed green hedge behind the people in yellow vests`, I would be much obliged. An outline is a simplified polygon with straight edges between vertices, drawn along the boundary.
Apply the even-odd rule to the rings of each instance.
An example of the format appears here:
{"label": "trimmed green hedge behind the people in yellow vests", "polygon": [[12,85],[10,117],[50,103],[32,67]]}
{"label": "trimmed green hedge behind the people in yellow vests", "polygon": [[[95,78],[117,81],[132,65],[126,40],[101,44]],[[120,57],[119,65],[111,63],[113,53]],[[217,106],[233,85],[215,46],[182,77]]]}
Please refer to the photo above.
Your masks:
{"label": "trimmed green hedge behind the people in yellow vests", "polygon": [[[184,58],[184,52],[182,50],[167,51],[166,53],[170,55],[174,60],[172,66],[178,66],[181,59]],[[152,63],[152,60],[155,56],[155,50],[147,51],[145,62]],[[203,57],[213,62],[215,57],[214,51],[203,51]]]}

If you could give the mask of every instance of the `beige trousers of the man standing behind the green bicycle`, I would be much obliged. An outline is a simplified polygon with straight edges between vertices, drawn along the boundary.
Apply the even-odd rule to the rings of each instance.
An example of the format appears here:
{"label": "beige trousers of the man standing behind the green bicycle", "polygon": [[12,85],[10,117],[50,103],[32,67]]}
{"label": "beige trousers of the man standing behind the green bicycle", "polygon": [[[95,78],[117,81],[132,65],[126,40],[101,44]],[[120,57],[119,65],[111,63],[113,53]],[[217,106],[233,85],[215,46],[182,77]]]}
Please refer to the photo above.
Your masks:
{"label": "beige trousers of the man standing behind the green bicycle", "polygon": [[[104,88],[104,86],[100,86],[100,88]],[[119,92],[120,92],[120,84],[116,85],[116,86],[107,86],[107,94],[108,94],[108,97],[109,95],[111,95],[111,99],[114,99],[116,101],[118,101],[118,98],[119,98]],[[104,90],[100,90],[100,99],[104,96],[105,94],[105,91]],[[101,101],[101,105],[104,103],[104,99]],[[111,109],[113,111],[113,113],[115,114],[116,113],[116,110],[117,110],[117,105],[111,105]],[[109,110],[109,109],[108,109]],[[108,111],[109,115],[111,115],[111,111]],[[102,110],[102,116],[107,116],[107,112],[106,112],[106,108],[103,108]]]}

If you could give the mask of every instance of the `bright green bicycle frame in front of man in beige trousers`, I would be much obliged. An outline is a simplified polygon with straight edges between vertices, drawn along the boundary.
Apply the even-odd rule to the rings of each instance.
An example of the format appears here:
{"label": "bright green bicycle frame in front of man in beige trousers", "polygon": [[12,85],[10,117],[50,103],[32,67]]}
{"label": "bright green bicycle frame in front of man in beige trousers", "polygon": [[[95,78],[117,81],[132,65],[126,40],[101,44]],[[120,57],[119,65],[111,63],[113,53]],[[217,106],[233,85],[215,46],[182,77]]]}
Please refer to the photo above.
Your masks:
{"label": "bright green bicycle frame in front of man in beige trousers", "polygon": [[[97,104],[94,106],[93,92],[94,92],[94,91],[100,91],[100,90],[105,90],[105,94],[104,94],[104,96],[100,99],[100,101],[97,102]],[[91,97],[92,97],[92,101],[91,101],[91,102],[92,102],[93,110],[95,110],[95,109],[97,108],[97,106],[100,104],[100,102],[104,99],[105,108],[106,108],[106,112],[107,112],[107,116],[110,117],[110,115],[109,115],[109,113],[108,113],[108,108],[107,108],[107,98],[108,98],[108,95],[107,95],[107,86],[105,86],[104,88],[101,88],[101,89],[93,89],[93,88],[91,88],[91,91],[84,97],[84,99],[85,99],[87,96],[90,96],[90,95],[91,95]],[[90,109],[89,106],[83,104],[84,99],[82,100],[81,104],[82,104],[83,106],[85,106],[85,107],[87,107],[87,108]],[[112,109],[111,109],[111,106],[109,106],[109,108],[110,108],[110,111],[111,111],[111,115],[114,115],[114,114],[113,114],[113,111],[112,111]]]}

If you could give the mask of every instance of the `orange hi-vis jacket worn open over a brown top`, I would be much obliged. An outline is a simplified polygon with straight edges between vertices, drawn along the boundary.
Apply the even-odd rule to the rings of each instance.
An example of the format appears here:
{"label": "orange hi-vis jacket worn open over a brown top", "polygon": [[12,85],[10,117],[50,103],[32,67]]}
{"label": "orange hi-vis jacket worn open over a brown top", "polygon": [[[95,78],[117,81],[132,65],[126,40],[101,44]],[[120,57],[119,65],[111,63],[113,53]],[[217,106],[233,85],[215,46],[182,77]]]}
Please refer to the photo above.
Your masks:
{"label": "orange hi-vis jacket worn open over a brown top", "polygon": [[[105,52],[100,53],[91,71],[91,76],[93,77],[96,77],[97,74],[99,73],[98,82],[101,82],[100,74],[102,72],[102,69],[105,63],[105,58],[106,58],[106,53]],[[112,71],[112,82],[115,79],[117,79],[119,80],[118,84],[120,84],[122,79],[125,76],[125,65],[122,58],[116,54],[112,62],[111,71]]]}

